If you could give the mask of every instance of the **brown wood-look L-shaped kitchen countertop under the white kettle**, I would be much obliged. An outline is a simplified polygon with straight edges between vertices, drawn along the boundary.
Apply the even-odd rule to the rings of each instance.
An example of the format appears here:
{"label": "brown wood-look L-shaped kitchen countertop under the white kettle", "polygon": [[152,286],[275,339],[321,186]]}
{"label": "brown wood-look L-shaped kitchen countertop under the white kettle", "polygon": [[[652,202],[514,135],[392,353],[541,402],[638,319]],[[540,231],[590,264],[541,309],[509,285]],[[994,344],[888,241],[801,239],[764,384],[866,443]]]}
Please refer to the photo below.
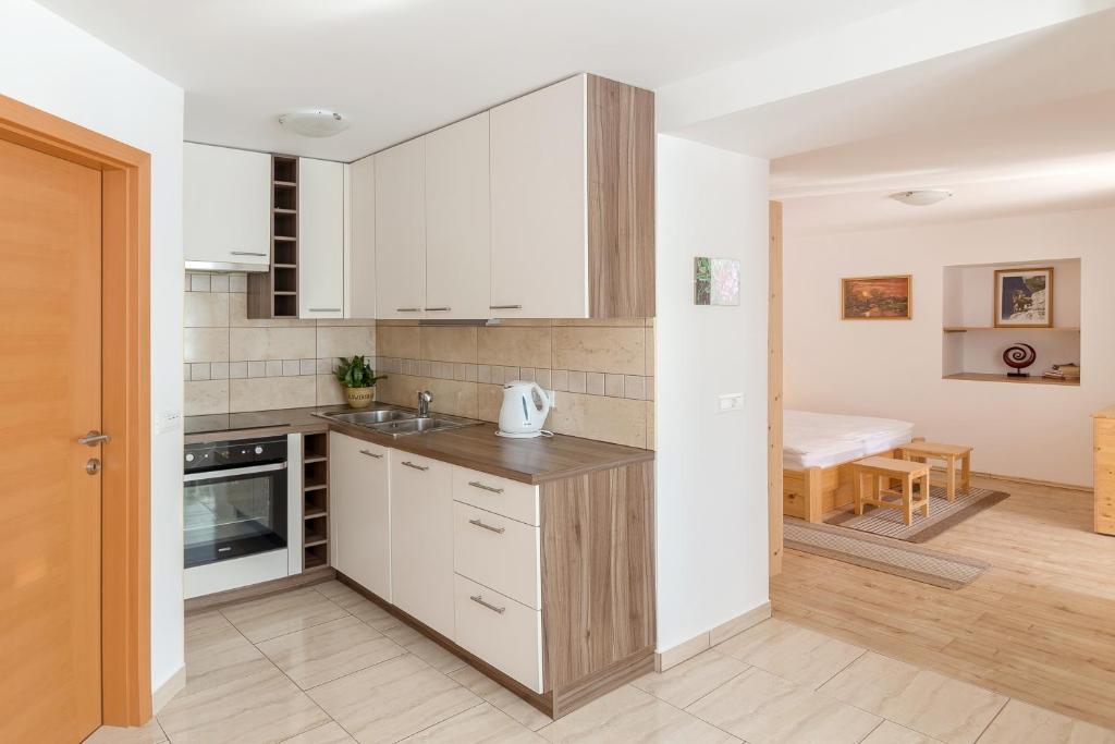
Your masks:
{"label": "brown wood-look L-shaped kitchen countertop under the white kettle", "polygon": [[[391,438],[359,426],[340,424],[314,416],[314,413],[342,410],[347,406],[289,408],[252,414],[234,414],[230,428],[205,434],[187,434],[186,444],[236,438],[244,435],[270,436],[294,432],[332,429],[367,442],[469,467],[522,483],[544,483],[611,470],[655,458],[650,450],[582,439],[575,436],[541,436],[511,439],[495,435],[495,424],[413,434]],[[239,427],[239,428],[234,428]]]}

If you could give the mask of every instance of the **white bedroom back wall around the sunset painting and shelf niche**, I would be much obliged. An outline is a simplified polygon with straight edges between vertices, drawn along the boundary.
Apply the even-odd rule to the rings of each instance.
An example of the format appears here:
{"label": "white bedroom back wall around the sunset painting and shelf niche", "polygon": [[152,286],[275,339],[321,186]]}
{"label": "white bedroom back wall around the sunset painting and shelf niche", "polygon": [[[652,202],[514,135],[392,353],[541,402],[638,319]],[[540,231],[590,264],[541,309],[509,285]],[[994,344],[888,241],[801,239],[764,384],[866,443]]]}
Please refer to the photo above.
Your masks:
{"label": "white bedroom back wall around the sunset painting and shelf niche", "polygon": [[[902,418],[931,441],[973,445],[977,471],[1092,483],[1088,415],[1115,402],[1115,210],[806,235],[785,206],[787,407]],[[941,379],[944,267],[1075,258],[1079,387]],[[840,320],[841,277],[889,273],[913,274],[913,320]]]}

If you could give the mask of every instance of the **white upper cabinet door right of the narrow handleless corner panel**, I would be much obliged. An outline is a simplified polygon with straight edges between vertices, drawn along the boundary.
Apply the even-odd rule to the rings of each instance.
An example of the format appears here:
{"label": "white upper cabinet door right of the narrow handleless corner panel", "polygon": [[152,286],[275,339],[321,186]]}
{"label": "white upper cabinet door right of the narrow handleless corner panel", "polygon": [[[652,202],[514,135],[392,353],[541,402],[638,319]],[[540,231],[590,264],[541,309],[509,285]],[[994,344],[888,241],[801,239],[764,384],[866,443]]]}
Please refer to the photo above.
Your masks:
{"label": "white upper cabinet door right of the narrow handleless corner panel", "polygon": [[376,317],[426,307],[426,138],[376,153]]}

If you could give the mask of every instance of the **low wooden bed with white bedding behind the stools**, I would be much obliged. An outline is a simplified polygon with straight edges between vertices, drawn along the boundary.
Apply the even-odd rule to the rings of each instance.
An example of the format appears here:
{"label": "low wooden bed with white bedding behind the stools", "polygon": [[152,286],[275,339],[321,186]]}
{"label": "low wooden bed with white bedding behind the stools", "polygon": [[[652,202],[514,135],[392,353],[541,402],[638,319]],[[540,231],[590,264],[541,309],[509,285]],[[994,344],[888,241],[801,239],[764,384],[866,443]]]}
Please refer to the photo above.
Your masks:
{"label": "low wooden bed with white bedding behind the stools", "polygon": [[820,522],[852,501],[851,463],[894,454],[913,441],[913,424],[894,418],[811,410],[783,414],[784,512]]}

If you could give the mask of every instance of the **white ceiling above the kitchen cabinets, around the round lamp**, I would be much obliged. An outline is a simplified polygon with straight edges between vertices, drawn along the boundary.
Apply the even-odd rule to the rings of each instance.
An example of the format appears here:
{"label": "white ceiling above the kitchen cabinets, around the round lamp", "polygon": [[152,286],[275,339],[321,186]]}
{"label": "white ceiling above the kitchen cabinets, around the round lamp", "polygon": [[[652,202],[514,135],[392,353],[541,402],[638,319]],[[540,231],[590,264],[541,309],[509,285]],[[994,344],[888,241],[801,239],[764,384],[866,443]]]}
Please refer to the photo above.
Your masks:
{"label": "white ceiling above the kitchen cabinets, around the round lamp", "polygon": [[[38,0],[186,90],[186,138],[350,161],[590,71],[647,88],[913,0]],[[307,139],[283,112],[351,128]]]}

